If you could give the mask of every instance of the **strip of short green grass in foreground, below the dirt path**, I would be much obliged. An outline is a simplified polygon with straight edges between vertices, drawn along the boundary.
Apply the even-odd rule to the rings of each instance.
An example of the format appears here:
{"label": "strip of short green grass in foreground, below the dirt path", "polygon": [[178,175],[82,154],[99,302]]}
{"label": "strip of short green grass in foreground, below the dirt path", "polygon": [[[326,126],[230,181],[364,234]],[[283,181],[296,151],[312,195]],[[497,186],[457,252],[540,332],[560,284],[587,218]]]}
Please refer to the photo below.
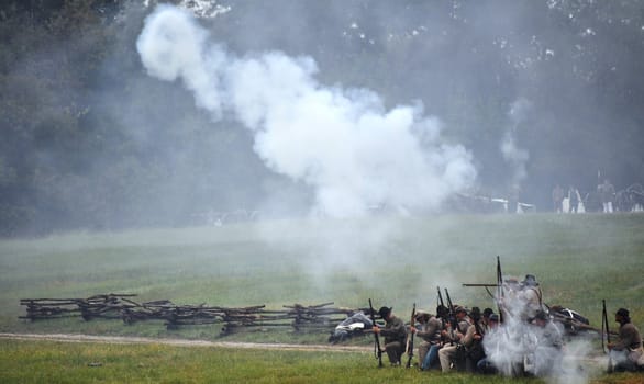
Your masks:
{"label": "strip of short green grass in foreground, below the dirt path", "polygon": [[[465,373],[378,369],[373,355],[163,345],[0,342],[2,383],[471,383]],[[593,383],[641,383],[637,374],[597,375]],[[544,383],[476,376],[481,384]]]}

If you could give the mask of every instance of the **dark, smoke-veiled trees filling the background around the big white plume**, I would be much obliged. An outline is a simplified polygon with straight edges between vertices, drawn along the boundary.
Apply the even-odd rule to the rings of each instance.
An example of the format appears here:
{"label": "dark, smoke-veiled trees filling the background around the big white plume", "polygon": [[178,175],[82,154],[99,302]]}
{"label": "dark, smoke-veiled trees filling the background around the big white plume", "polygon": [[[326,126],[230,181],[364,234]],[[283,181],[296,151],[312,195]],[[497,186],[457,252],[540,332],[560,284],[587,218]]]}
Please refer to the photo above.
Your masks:
{"label": "dark, smoke-veiled trees filling the background around the big white plume", "polygon": [[[220,3],[230,12],[201,22],[237,55],[308,55],[325,84],[373,89],[388,106],[422,101],[473,151],[486,193],[517,181],[499,150],[508,132],[530,154],[521,199],[537,206],[556,182],[595,190],[598,170],[618,189],[643,181],[637,2]],[[135,41],[149,12],[126,0],[0,5],[0,236],[185,226],[257,210],[275,185],[307,201],[248,133],[147,77]],[[530,109],[512,116],[518,101]]]}

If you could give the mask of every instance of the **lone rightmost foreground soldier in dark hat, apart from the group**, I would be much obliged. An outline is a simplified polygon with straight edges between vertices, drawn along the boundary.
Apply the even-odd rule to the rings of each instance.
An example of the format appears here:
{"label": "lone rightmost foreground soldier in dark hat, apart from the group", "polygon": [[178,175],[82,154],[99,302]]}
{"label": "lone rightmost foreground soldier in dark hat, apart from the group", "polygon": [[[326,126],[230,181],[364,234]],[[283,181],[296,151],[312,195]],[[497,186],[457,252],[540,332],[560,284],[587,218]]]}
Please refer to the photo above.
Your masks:
{"label": "lone rightmost foreground soldier in dark hat, apart from the group", "polygon": [[620,340],[608,345],[610,355],[615,361],[617,372],[636,371],[642,360],[642,335],[633,323],[629,309],[620,308],[615,313],[615,321],[620,324]]}

